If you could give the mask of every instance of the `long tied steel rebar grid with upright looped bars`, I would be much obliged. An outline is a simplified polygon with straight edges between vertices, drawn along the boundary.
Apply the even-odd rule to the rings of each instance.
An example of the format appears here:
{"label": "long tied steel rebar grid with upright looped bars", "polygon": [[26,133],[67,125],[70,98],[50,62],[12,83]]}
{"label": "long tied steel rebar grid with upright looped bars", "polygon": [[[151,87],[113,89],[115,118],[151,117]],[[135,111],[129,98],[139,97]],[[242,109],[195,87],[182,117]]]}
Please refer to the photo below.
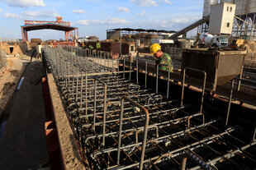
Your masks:
{"label": "long tied steel rebar grid with upright looped bars", "polygon": [[183,94],[181,101],[168,100],[145,88],[146,79],[139,85],[138,69],[120,71],[109,53],[71,47],[43,52],[92,169],[254,168],[256,141],[244,140],[238,126],[221,131],[219,119],[183,104]]}

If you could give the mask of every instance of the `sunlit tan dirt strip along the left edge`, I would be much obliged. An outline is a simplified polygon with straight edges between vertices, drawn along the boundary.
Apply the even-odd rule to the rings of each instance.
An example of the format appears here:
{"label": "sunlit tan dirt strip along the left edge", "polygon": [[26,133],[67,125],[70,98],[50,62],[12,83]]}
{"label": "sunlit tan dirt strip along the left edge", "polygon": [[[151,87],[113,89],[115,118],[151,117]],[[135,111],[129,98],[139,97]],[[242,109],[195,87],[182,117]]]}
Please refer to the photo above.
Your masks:
{"label": "sunlit tan dirt strip along the left edge", "polygon": [[7,57],[7,69],[0,72],[0,117],[16,90],[26,65],[31,57]]}

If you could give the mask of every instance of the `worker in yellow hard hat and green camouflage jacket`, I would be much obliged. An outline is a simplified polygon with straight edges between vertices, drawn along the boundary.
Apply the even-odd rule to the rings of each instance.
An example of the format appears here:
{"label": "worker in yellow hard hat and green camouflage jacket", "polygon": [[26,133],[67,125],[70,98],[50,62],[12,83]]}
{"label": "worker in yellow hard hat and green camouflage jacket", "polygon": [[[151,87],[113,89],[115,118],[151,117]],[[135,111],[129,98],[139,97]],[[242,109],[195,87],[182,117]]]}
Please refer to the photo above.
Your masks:
{"label": "worker in yellow hard hat and green camouflage jacket", "polygon": [[159,70],[168,71],[170,69],[173,72],[172,58],[168,53],[161,51],[161,46],[159,44],[152,44],[149,48],[150,53],[156,57],[156,65],[159,65]]}

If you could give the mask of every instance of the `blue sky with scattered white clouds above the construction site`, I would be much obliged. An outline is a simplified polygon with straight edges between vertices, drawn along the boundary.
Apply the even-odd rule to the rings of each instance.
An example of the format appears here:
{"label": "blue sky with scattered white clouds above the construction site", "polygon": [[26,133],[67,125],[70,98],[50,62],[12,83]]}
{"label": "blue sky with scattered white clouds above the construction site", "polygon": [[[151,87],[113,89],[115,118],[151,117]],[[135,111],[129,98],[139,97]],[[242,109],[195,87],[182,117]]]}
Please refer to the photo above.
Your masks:
{"label": "blue sky with scattered white clouds above the construction site", "polygon": [[[84,35],[107,38],[114,28],[181,30],[201,19],[203,0],[0,0],[0,38],[21,39],[25,20],[62,16]],[[193,30],[188,35],[196,34]],[[58,30],[32,30],[29,39],[64,39]]]}

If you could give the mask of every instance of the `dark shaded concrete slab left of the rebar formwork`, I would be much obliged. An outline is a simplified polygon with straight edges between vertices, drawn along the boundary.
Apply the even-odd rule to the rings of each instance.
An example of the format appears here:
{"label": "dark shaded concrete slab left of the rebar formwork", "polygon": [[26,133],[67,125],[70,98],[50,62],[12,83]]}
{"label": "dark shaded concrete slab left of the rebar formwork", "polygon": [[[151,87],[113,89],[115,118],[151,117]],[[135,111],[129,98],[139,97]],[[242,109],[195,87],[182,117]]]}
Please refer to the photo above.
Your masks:
{"label": "dark shaded concrete slab left of the rebar formwork", "polygon": [[42,85],[34,85],[42,75],[42,62],[31,62],[7,108],[9,117],[0,139],[1,169],[35,169],[48,159]]}

